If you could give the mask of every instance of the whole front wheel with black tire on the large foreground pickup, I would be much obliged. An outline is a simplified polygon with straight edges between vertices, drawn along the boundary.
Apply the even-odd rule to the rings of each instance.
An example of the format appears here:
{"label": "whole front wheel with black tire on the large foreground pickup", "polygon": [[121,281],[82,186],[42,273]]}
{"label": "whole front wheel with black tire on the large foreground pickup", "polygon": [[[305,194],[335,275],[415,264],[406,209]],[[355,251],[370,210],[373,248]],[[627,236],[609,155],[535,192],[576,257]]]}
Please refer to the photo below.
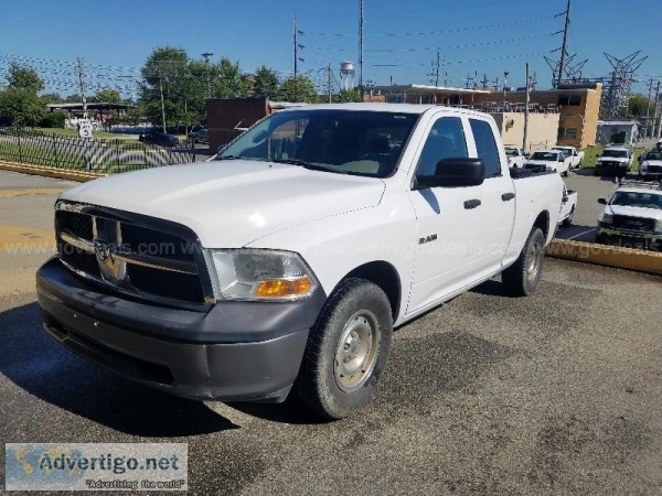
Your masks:
{"label": "whole front wheel with black tire on the large foreground pickup", "polygon": [[310,331],[293,392],[325,419],[350,416],[375,393],[392,334],[393,316],[384,291],[364,279],[346,279],[329,296]]}

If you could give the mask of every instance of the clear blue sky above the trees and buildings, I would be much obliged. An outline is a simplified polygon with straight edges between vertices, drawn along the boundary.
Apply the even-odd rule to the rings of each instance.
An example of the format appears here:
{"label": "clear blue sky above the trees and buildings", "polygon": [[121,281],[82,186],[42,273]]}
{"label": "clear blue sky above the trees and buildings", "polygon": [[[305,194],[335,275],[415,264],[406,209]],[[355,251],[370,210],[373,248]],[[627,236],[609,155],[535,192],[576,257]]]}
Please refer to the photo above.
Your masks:
{"label": "clear blue sky above the trees and buildings", "polygon": [[[551,85],[544,60],[558,60],[567,0],[364,0],[363,82],[376,85],[430,84],[465,87],[485,79],[508,86],[525,83],[525,63],[538,88]],[[297,18],[300,73],[334,84],[340,63],[359,68],[360,0],[1,0],[0,84],[9,61],[32,65],[47,90],[76,91],[76,58],[83,57],[86,85],[136,91],[139,69],[158,46],[183,48],[192,58],[211,52],[242,71],[267,65],[281,77],[293,72]],[[584,77],[607,76],[605,52],[624,58],[648,56],[637,69],[633,90],[648,94],[662,80],[660,0],[572,0],[568,52],[584,60]],[[651,21],[654,20],[654,21]],[[645,28],[648,25],[648,28]],[[554,51],[556,50],[556,51]],[[359,82],[356,71],[355,82]],[[480,84],[480,83],[479,83]]]}

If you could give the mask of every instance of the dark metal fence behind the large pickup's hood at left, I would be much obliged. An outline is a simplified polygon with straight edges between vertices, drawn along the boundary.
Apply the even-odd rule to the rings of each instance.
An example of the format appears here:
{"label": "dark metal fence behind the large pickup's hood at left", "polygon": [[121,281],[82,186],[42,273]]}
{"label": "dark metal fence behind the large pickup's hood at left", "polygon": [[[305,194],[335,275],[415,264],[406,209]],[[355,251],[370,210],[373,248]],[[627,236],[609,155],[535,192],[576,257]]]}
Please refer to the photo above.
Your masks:
{"label": "dark metal fence behind the large pickup's hood at left", "polygon": [[164,147],[131,139],[83,139],[0,128],[0,160],[9,162],[116,174],[202,159],[190,141]]}

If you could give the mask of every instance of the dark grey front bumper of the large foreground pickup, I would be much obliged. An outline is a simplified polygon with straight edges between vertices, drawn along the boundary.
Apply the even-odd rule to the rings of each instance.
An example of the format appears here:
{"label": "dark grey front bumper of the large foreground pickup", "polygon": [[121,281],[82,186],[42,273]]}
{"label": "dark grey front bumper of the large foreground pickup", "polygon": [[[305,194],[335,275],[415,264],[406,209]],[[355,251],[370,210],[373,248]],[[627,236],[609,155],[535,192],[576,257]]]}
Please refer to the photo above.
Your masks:
{"label": "dark grey front bumper of the large foreground pickup", "polygon": [[108,294],[57,259],[36,274],[44,330],[90,362],[190,399],[282,401],[325,301],[221,302],[206,311]]}

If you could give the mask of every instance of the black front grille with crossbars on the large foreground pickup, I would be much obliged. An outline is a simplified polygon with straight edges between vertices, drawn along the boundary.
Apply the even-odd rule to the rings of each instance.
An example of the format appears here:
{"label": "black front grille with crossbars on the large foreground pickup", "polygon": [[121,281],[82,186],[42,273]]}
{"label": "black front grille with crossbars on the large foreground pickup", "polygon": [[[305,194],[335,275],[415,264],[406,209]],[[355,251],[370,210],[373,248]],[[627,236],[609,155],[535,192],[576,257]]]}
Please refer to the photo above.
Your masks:
{"label": "black front grille with crossbars on the large foreground pickup", "polygon": [[64,265],[113,291],[175,305],[212,300],[200,242],[182,225],[58,202],[55,231]]}

